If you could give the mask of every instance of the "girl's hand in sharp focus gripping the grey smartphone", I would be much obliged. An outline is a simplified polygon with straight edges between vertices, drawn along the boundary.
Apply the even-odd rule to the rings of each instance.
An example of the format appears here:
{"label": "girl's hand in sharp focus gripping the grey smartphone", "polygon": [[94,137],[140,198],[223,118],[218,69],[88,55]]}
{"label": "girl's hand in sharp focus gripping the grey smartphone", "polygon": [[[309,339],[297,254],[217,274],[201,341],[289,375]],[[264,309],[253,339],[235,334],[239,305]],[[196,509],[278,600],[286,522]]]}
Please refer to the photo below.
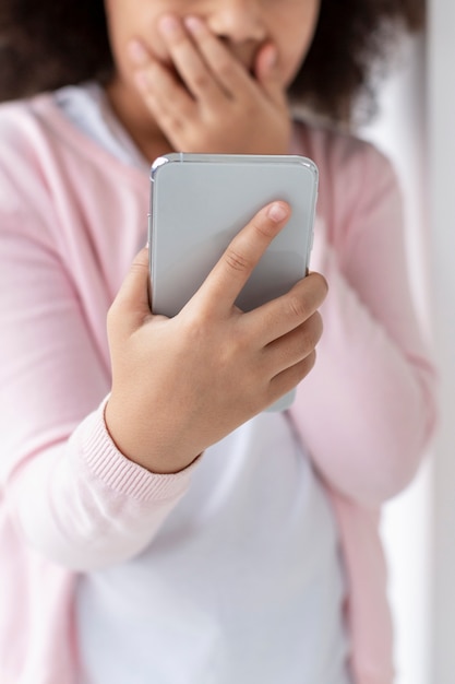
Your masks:
{"label": "girl's hand in sharp focus gripping the grey smartphone", "polygon": [[131,460],[157,473],[185,468],[312,368],[326,295],[321,275],[252,311],[235,306],[288,216],[284,202],[261,210],[173,318],[151,312],[147,250],[136,257],[108,315],[106,425]]}

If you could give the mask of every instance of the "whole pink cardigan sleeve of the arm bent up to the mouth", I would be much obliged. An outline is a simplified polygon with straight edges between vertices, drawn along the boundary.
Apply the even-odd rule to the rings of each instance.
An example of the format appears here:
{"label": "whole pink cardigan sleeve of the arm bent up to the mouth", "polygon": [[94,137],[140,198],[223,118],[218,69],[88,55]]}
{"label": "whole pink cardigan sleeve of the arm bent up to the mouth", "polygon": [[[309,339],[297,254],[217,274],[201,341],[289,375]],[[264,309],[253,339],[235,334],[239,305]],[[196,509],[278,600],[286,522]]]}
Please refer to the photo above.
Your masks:
{"label": "whole pink cardigan sleeve of the arm bent up to the mouth", "polygon": [[435,372],[412,305],[394,172],[371,145],[342,157],[332,161],[336,185],[322,187],[312,259],[330,287],[324,332],[291,415],[331,486],[375,506],[416,473],[435,423]]}

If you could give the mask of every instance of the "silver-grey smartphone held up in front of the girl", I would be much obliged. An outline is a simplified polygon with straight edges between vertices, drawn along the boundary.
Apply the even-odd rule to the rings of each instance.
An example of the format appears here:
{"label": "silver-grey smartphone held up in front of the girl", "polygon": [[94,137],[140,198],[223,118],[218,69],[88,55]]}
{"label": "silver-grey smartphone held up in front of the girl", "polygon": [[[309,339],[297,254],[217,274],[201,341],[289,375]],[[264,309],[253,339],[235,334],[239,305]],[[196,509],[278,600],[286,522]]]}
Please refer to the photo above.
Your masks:
{"label": "silver-grey smartphone held up in front of the girl", "polygon": [[[151,168],[151,307],[175,316],[202,285],[234,236],[273,200],[291,207],[236,304],[251,310],[287,293],[308,272],[318,167],[298,155],[171,153]],[[271,410],[283,411],[295,391]]]}

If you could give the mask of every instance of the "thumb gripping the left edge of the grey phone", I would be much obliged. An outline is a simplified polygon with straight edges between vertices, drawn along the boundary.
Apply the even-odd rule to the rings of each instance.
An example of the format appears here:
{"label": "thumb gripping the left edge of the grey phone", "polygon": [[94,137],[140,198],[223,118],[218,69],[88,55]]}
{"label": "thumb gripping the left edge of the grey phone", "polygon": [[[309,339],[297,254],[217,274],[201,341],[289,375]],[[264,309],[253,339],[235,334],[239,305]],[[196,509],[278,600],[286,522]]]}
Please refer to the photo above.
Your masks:
{"label": "thumb gripping the left edge of the grey phone", "polygon": [[152,314],[148,300],[148,246],[134,257],[109,309],[110,326],[133,332]]}

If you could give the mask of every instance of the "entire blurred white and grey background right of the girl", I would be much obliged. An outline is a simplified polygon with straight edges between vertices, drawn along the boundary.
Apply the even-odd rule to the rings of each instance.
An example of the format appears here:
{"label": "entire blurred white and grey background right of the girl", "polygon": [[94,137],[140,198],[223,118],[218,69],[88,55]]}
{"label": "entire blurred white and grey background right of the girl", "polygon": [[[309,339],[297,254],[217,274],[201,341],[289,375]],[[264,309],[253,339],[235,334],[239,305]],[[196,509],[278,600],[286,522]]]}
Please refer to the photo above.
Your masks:
{"label": "entire blurred white and grey background right of the girl", "polygon": [[412,288],[440,373],[436,439],[382,524],[396,684],[455,683],[455,2],[427,4],[426,31],[402,45],[380,115],[360,129],[398,172]]}

